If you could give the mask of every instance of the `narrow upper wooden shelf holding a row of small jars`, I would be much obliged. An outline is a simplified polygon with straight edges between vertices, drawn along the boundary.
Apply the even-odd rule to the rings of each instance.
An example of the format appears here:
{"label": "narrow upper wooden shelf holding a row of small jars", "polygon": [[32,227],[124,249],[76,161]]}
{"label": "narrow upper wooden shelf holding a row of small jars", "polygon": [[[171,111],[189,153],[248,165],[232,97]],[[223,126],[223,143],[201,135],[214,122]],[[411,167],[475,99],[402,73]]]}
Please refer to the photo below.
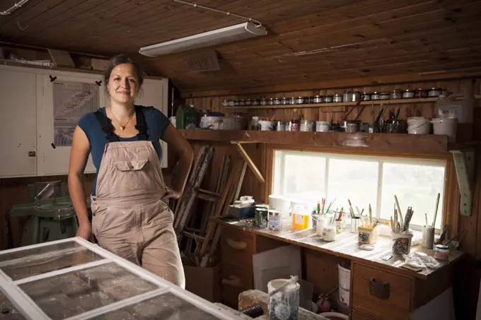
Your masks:
{"label": "narrow upper wooden shelf holding a row of small jars", "polygon": [[[418,99],[393,99],[393,100],[371,100],[361,101],[359,105],[409,105],[419,103],[434,103],[438,100],[437,97],[424,97]],[[230,109],[299,109],[299,108],[322,108],[322,107],[350,107],[356,105],[357,102],[332,102],[332,103],[308,103],[306,105],[238,105],[235,107],[223,107],[226,110]]]}

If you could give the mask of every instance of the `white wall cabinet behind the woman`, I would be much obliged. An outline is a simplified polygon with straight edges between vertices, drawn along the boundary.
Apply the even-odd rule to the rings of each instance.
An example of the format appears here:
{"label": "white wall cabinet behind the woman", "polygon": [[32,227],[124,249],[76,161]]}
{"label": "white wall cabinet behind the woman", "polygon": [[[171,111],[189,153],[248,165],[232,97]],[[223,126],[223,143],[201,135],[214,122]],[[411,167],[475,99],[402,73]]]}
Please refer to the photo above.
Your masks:
{"label": "white wall cabinet behind the woman", "polygon": [[[0,178],[67,174],[76,122],[108,104],[102,78],[95,73],[0,66],[0,117],[4,119]],[[146,79],[136,104],[167,114],[167,101],[167,79]],[[161,142],[162,167],[167,167],[167,145]],[[85,172],[95,172],[91,156]]]}

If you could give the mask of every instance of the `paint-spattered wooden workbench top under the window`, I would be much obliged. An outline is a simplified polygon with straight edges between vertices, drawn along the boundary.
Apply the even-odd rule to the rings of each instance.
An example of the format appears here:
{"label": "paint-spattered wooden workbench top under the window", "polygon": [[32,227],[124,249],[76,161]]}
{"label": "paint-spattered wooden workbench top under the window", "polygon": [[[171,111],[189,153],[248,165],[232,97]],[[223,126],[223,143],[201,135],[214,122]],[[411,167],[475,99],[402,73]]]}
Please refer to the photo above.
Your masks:
{"label": "paint-spattered wooden workbench top under the window", "polygon": [[[324,252],[326,254],[333,254],[353,261],[361,263],[369,263],[378,268],[390,269],[397,273],[402,273],[414,276],[420,279],[426,279],[431,273],[436,272],[435,269],[427,269],[420,272],[415,272],[401,266],[405,263],[402,256],[393,256],[389,261],[382,261],[381,258],[391,253],[392,242],[390,237],[378,237],[378,242],[374,244],[372,251],[359,249],[357,242],[357,234],[344,230],[340,235],[337,235],[335,242],[325,242],[321,237],[315,233],[315,229],[309,228],[306,230],[295,230],[292,227],[284,227],[280,231],[272,231],[268,229],[260,229],[259,227],[247,227],[244,220],[235,220],[227,222],[219,218],[213,219],[220,225],[234,227],[245,232],[251,232],[255,235],[263,237],[270,237],[282,242],[295,244],[299,247],[313,249],[315,251]],[[420,245],[411,247],[411,252],[420,251],[430,256],[434,255],[434,251],[430,249],[422,249]],[[446,266],[454,261],[457,261],[464,253],[462,251],[450,251],[448,261],[439,261],[442,266]],[[442,267],[441,267],[442,268]],[[394,270],[393,270],[394,269]]]}

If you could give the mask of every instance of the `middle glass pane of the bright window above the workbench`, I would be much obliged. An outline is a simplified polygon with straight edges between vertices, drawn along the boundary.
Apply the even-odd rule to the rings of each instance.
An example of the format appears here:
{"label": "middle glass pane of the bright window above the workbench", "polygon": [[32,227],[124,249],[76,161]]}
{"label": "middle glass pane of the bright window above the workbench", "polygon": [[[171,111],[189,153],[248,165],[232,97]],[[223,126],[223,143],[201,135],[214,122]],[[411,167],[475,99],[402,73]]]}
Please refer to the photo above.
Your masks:
{"label": "middle glass pane of the bright window above the workbench", "polygon": [[378,162],[365,160],[329,160],[329,181],[327,203],[336,198],[332,208],[341,209],[349,214],[349,198],[356,211],[356,206],[364,214],[369,213],[369,203],[373,216],[376,215],[376,198],[378,188]]}

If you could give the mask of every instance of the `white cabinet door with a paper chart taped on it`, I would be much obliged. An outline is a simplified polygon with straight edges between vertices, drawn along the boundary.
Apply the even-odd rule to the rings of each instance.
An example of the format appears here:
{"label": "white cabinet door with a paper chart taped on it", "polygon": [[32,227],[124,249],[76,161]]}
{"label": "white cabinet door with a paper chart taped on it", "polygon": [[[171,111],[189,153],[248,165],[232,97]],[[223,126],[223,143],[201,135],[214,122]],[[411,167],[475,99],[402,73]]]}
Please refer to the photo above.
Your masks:
{"label": "white cabinet door with a paper chart taped on it", "polygon": [[[42,93],[37,97],[38,106],[38,172],[54,175],[69,172],[72,136],[80,117],[103,107],[105,88],[95,81],[100,75],[71,73],[42,75],[37,78],[37,87]],[[85,173],[95,172],[88,157]]]}

